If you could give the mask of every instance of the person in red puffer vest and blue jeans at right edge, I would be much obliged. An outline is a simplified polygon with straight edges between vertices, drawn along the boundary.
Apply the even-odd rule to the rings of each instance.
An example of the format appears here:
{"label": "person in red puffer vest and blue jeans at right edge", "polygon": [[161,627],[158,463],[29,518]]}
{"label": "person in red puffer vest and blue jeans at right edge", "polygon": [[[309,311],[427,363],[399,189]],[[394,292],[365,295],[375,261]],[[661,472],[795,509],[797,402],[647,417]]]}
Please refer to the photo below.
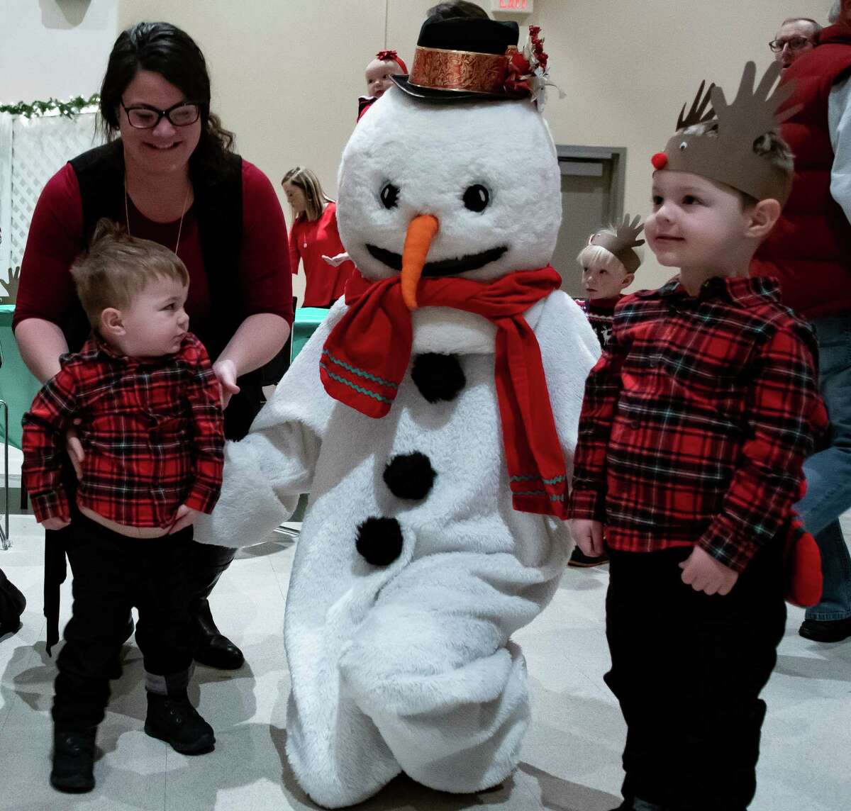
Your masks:
{"label": "person in red puffer vest and blue jeans at right edge", "polygon": [[851,0],[836,0],[828,19],[834,25],[820,31],[817,47],[783,74],[794,83],[788,106],[800,106],[780,128],[795,154],[795,181],[751,265],[754,276],[780,279],[784,303],[819,340],[830,445],[804,463],[808,488],[797,511],[825,575],[821,602],[799,632],[824,643],[851,637],[851,555],[838,520],[851,509]]}

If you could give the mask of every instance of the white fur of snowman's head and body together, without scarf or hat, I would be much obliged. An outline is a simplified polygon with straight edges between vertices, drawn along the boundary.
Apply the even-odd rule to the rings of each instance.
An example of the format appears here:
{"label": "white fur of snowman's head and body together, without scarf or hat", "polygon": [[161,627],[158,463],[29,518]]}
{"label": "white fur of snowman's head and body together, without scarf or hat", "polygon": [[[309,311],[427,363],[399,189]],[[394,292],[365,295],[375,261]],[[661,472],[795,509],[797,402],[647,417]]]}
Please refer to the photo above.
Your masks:
{"label": "white fur of snowman's head and body together, without scarf or hat", "polygon": [[[453,263],[465,278],[546,266],[561,223],[560,175],[534,106],[384,94],[340,163],[340,237],[364,277],[397,272],[392,257],[420,214],[439,223],[427,262]],[[316,802],[360,802],[401,770],[436,789],[479,791],[517,765],[529,709],[511,635],[556,589],[568,529],[511,505],[492,323],[441,307],[415,311],[414,355],[457,355],[465,386],[450,402],[428,403],[408,367],[390,413],[374,420],[328,397],[320,381],[323,344],[345,311],[334,306],[248,437],[228,443],[220,501],[197,534],[222,545],[265,540],[298,495],[311,494],[284,640],[287,754]],[[569,475],[599,345],[561,292],[525,317]],[[397,351],[392,339],[386,351]],[[413,452],[437,472],[421,501],[398,499],[383,480],[394,456]],[[389,566],[357,552],[369,517],[395,518],[402,529],[402,553]]]}

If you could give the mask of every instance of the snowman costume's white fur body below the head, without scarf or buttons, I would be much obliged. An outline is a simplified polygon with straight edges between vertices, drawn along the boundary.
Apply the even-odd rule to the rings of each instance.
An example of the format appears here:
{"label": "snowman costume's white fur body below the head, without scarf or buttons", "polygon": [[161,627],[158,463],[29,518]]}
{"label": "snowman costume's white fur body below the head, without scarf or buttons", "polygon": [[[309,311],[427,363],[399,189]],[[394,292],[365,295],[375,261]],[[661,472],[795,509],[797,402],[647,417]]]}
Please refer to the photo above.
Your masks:
{"label": "snowman costume's white fur body below the head, without scarf or buttons", "polygon": [[[263,540],[294,500],[311,500],[296,548],[284,638],[292,677],[287,753],[328,808],[360,802],[400,770],[443,791],[478,791],[517,765],[528,725],[525,663],[510,637],[549,602],[570,540],[565,524],[517,512],[494,386],[494,328],[443,308],[414,316],[414,352],[454,352],[466,384],[428,403],[410,380],[374,420],[328,397],[317,329],[241,443],[205,540]],[[527,313],[560,443],[573,457],[585,377],[599,354],[561,292]],[[412,356],[413,359],[413,356]],[[396,454],[426,454],[437,478],[422,502],[382,480]],[[403,551],[386,568],[357,553],[357,527],[395,517]]]}

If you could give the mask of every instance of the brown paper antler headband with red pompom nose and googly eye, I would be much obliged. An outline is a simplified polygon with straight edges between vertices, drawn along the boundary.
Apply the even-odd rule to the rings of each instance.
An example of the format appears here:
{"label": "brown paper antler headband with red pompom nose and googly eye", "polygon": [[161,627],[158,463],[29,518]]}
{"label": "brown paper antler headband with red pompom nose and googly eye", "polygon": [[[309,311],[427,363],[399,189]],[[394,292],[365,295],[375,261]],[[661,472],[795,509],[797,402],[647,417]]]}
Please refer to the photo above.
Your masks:
{"label": "brown paper antler headband with red pompom nose and googly eye", "polygon": [[[753,151],[757,138],[776,130],[801,109],[794,106],[778,112],[794,89],[793,84],[787,82],[771,92],[779,76],[780,63],[773,62],[754,89],[757,66],[748,62],[732,104],[727,103],[724,91],[717,85],[711,84],[704,94],[706,83],[701,82],[688,114],[683,105],[677,129],[713,120],[717,127],[704,134],[677,132],[672,135],[665,151],[653,156],[654,167],[699,174],[733,186],[757,200],[774,198],[785,203],[791,191],[791,173],[772,166],[768,157]],[[710,101],[711,110],[706,111]]]}

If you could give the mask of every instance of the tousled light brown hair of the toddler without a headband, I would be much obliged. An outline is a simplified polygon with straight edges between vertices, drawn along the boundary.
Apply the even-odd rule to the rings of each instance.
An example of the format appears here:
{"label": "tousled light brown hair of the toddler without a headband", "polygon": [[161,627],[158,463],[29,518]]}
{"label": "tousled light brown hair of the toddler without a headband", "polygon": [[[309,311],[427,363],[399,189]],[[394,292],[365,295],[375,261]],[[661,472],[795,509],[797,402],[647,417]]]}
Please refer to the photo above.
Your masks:
{"label": "tousled light brown hair of the toddler without a headband", "polygon": [[94,226],[89,250],[77,257],[71,276],[93,327],[107,307],[126,309],[154,279],[189,285],[189,271],[177,254],[150,239],[131,237],[106,218]]}

